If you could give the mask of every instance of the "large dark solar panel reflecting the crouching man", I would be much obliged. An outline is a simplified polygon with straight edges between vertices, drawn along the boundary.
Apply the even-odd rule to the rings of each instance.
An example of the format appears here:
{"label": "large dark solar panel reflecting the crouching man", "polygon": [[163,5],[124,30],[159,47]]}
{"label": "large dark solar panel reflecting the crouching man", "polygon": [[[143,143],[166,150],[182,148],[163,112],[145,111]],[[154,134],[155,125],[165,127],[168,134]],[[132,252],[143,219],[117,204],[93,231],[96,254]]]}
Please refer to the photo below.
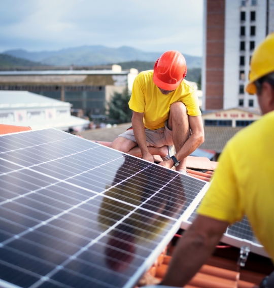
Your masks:
{"label": "large dark solar panel reflecting the crouching man", "polygon": [[77,136],[0,136],[0,286],[133,287],[207,183]]}

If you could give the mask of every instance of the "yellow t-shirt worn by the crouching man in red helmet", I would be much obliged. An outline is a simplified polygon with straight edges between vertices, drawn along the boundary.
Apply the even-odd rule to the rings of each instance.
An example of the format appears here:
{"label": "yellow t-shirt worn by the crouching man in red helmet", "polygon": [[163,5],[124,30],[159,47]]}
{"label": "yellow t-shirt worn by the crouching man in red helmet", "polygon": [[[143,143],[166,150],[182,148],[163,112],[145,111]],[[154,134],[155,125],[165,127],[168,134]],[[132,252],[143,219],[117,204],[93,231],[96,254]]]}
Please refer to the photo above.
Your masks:
{"label": "yellow t-shirt worn by the crouching man in red helmet", "polygon": [[144,125],[155,130],[164,127],[168,119],[170,105],[181,101],[186,105],[189,116],[201,115],[199,101],[194,88],[183,80],[179,87],[164,95],[153,82],[153,70],[141,72],[134,80],[129,108],[144,113]]}

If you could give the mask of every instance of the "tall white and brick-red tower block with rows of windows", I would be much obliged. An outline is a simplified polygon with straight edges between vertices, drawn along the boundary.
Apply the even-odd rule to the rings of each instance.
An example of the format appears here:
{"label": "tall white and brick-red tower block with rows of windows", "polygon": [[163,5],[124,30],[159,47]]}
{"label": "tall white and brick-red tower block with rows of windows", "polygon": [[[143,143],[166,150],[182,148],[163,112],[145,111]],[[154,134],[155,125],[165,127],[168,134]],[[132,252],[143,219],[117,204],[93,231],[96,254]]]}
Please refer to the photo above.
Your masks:
{"label": "tall white and brick-red tower block with rows of windows", "polygon": [[245,92],[256,45],[274,32],[274,0],[204,0],[203,110],[258,108]]}

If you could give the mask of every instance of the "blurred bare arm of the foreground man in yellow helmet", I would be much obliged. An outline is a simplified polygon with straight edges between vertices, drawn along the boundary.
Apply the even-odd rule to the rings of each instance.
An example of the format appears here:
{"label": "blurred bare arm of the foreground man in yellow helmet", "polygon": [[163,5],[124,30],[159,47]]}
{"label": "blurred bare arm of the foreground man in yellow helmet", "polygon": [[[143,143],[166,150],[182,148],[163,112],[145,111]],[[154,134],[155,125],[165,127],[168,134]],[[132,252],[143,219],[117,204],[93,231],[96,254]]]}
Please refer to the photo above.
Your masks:
{"label": "blurred bare arm of the foreground man in yellow helmet", "polygon": [[178,242],[163,285],[183,287],[207,262],[228,222],[198,215]]}

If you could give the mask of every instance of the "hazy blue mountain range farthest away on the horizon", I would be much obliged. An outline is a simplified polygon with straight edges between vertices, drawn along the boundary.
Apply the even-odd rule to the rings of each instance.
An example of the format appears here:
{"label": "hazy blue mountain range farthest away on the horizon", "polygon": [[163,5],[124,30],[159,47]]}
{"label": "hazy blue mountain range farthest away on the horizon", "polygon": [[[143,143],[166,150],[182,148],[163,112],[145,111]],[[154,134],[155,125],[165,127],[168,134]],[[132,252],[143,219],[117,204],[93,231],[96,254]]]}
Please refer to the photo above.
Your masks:
{"label": "hazy blue mountain range farthest away on the horizon", "polygon": [[[120,48],[110,48],[106,46],[82,46],[67,48],[58,51],[29,52],[26,50],[8,50],[5,54],[38,61],[48,65],[101,65],[108,63],[119,63],[128,61],[147,61],[155,62],[161,52],[144,52],[139,49],[122,46]],[[201,57],[184,54],[187,65],[191,67],[201,67]]]}

